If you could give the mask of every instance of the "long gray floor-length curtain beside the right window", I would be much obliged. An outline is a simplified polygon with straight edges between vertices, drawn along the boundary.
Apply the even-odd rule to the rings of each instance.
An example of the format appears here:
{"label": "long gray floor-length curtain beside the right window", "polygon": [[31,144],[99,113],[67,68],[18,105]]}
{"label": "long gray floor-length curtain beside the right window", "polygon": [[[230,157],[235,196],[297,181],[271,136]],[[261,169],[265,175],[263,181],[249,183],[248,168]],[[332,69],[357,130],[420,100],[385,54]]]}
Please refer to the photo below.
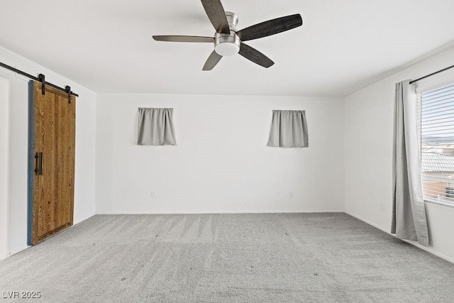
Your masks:
{"label": "long gray floor-length curtain beside the right window", "polygon": [[393,207],[391,233],[397,238],[418,241],[428,246],[421,163],[416,121],[414,84],[396,84],[394,142],[392,153]]}

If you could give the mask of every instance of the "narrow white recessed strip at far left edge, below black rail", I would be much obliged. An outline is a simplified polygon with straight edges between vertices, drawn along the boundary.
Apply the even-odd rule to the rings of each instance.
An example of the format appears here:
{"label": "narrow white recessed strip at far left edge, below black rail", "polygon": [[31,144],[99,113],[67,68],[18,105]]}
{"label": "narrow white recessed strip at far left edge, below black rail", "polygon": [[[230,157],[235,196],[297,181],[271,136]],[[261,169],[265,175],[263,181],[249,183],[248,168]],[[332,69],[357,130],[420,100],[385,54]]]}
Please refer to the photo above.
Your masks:
{"label": "narrow white recessed strip at far left edge, below black rail", "polygon": [[9,82],[0,77],[0,260],[8,254]]}

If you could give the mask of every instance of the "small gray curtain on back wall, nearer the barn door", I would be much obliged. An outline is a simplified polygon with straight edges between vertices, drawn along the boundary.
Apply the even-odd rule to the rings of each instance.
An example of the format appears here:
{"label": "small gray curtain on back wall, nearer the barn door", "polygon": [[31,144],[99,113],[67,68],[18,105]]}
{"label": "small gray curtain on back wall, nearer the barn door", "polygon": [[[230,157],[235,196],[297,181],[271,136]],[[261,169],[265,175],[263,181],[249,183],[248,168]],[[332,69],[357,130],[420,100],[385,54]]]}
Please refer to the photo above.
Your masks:
{"label": "small gray curtain on back wall, nearer the barn door", "polygon": [[138,145],[177,145],[173,109],[139,108]]}

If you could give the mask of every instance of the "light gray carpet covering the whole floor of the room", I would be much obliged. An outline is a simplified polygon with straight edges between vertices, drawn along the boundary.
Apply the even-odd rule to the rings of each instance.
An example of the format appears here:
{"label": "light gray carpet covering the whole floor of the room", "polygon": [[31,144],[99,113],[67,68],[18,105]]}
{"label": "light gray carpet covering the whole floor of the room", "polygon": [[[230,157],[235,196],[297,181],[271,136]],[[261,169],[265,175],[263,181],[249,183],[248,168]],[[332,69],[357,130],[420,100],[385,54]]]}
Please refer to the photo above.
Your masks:
{"label": "light gray carpet covering the whole floor of the room", "polygon": [[0,302],[11,291],[41,293],[24,302],[454,302],[454,265],[347,214],[98,215],[0,261]]}

